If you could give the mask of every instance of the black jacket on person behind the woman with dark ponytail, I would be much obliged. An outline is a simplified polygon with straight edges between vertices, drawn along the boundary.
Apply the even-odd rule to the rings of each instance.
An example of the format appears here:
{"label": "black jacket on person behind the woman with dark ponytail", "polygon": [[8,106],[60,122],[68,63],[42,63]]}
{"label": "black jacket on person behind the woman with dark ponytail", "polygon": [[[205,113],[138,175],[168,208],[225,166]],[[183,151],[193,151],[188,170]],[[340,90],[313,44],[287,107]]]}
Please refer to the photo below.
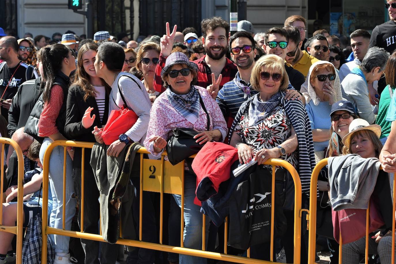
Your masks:
{"label": "black jacket on person behind the woman with dark ponytail", "polygon": [[19,86],[8,111],[7,129],[10,137],[15,130],[25,126],[34,104],[42,93],[40,85],[44,85],[44,83],[41,82],[41,77],[38,77],[36,80],[26,81]]}

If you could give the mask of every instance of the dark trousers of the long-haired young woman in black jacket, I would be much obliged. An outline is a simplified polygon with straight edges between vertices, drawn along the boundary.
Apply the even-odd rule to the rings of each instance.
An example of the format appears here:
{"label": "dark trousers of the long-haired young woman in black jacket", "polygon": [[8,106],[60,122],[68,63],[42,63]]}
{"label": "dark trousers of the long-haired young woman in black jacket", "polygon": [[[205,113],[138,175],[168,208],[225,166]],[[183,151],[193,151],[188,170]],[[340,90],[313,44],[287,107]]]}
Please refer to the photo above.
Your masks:
{"label": "dark trousers of the long-haired young woman in black jacket", "polygon": [[[88,166],[87,166],[88,165]],[[78,194],[78,224],[81,228],[81,168],[73,169],[74,189]],[[92,168],[86,164],[84,169],[84,228],[89,234],[99,234],[99,190],[93,176]],[[81,239],[81,245],[85,253],[86,264],[114,264],[117,260],[118,247],[116,244],[102,243],[101,260],[99,262],[99,241]]]}

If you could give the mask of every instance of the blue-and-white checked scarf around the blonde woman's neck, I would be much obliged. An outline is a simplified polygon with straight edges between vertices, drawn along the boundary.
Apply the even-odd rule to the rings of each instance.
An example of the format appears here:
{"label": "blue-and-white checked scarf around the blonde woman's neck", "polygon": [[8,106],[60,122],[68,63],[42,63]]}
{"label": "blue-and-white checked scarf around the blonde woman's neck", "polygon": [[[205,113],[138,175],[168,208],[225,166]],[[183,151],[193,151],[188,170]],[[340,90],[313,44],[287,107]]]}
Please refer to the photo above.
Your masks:
{"label": "blue-and-white checked scarf around the blonde woman's neck", "polygon": [[280,104],[280,97],[282,97],[282,93],[278,91],[268,101],[263,102],[259,99],[259,93],[255,95],[249,107],[249,126],[256,125],[267,118],[272,110]]}

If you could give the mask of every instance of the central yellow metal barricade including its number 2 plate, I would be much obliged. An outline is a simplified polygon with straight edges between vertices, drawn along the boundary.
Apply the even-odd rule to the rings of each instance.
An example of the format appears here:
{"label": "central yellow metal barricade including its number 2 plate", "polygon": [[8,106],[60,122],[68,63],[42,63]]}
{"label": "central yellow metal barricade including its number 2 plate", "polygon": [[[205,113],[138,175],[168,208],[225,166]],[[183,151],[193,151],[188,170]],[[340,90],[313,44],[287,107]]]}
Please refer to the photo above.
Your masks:
{"label": "central yellow metal barricade including its number 2 plate", "polygon": [[[48,165],[49,165],[49,156],[51,155],[51,152],[53,148],[57,146],[63,146],[64,147],[64,155],[66,156],[66,147],[67,146],[72,146],[75,148],[83,148],[82,149],[82,164],[81,164],[81,217],[84,216],[84,148],[92,148],[93,143],[89,142],[78,142],[78,141],[54,141],[52,142],[44,155],[44,175],[43,175],[43,219],[48,218]],[[183,255],[191,255],[191,256],[198,256],[198,257],[203,257],[203,258],[213,258],[217,260],[223,260],[223,261],[230,261],[230,262],[237,262],[237,263],[272,263],[274,262],[273,255],[271,254],[271,262],[264,261],[264,260],[257,260],[257,259],[252,259],[249,258],[249,250],[247,251],[247,258],[245,257],[240,257],[240,256],[233,256],[233,255],[227,255],[227,224],[228,224],[228,219],[226,219],[225,223],[225,238],[224,238],[224,254],[223,253],[215,253],[215,252],[209,252],[206,251],[206,237],[205,237],[205,215],[202,216],[202,250],[198,249],[188,249],[183,247],[183,231],[184,231],[184,217],[183,217],[183,206],[181,207],[181,226],[180,226],[180,232],[181,232],[181,241],[180,247],[175,247],[175,246],[169,246],[169,245],[163,245],[163,238],[162,238],[162,233],[163,233],[163,196],[164,193],[167,194],[179,194],[181,195],[181,204],[184,204],[184,162],[181,162],[175,166],[172,166],[169,161],[164,160],[164,156],[166,156],[166,152],[162,154],[161,160],[149,160],[147,158],[144,158],[144,154],[147,154],[147,150],[145,148],[141,148],[138,153],[140,153],[140,212],[139,212],[139,240],[129,240],[129,239],[118,239],[117,244],[120,245],[127,245],[127,246],[133,246],[133,247],[141,247],[141,248],[146,248],[146,249],[154,249],[158,251],[165,251],[165,252],[172,252],[172,253],[178,253],[178,254],[183,254]],[[137,157],[136,157],[137,158]],[[66,159],[65,159],[66,160]],[[279,159],[270,159],[266,162],[266,164],[272,165],[273,173],[272,173],[272,207],[271,207],[271,243],[270,243],[270,249],[271,252],[274,251],[274,188],[275,188],[275,169],[274,166],[281,166],[287,169],[291,176],[293,177],[294,180],[294,186],[295,186],[295,214],[294,214],[294,259],[295,260],[300,260],[300,249],[301,249],[301,182],[299,175],[295,168],[288,162],[284,160],[279,160]],[[66,166],[64,164],[64,179],[66,175]],[[64,190],[65,190],[65,180],[64,180]],[[158,192],[160,193],[160,237],[159,237],[159,244],[156,243],[148,243],[148,242],[143,242],[142,241],[142,213],[143,213],[143,191],[149,191],[149,192]],[[65,201],[65,199],[63,199]],[[306,210],[307,211],[307,210]],[[99,212],[98,212],[99,213]],[[65,214],[65,206],[63,206],[63,215]],[[63,218],[65,219],[65,218]],[[84,219],[81,219],[81,226],[83,226],[83,221]],[[97,234],[88,234],[82,232],[76,232],[76,231],[69,231],[69,230],[64,230],[65,226],[65,220],[63,220],[63,229],[56,229],[56,228],[51,228],[48,226],[47,221],[43,221],[43,226],[42,226],[42,241],[43,245],[46,245],[47,243],[47,235],[48,234],[56,234],[56,235],[61,235],[61,236],[69,236],[69,237],[77,237],[77,238],[82,238],[82,239],[91,239],[91,240],[96,240],[96,241],[103,241],[103,238],[101,235]],[[46,264],[46,254],[47,254],[47,247],[43,246],[42,248],[42,263]],[[298,263],[298,262],[297,262]]]}

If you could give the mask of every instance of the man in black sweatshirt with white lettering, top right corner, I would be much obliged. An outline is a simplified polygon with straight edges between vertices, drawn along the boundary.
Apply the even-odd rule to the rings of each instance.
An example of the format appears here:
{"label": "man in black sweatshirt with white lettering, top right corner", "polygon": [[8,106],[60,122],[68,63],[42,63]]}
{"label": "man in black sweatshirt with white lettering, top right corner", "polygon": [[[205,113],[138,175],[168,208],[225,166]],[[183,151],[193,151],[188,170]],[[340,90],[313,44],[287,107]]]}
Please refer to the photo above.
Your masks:
{"label": "man in black sweatshirt with white lettering, top right corner", "polygon": [[[396,0],[387,0],[385,8],[388,10],[389,21],[376,26],[371,33],[369,48],[383,47],[390,54],[396,49]],[[381,94],[386,86],[385,78],[378,81],[378,93]]]}

